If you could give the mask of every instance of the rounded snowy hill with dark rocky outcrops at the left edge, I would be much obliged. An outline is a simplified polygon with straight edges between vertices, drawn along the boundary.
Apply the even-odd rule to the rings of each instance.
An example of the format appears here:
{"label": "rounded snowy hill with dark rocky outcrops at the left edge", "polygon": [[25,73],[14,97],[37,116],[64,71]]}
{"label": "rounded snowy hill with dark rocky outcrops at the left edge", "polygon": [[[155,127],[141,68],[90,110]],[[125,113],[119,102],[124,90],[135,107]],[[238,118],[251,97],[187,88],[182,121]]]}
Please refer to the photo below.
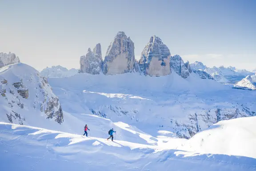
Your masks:
{"label": "rounded snowy hill with dark rocky outcrops at the left edge", "polygon": [[47,79],[27,64],[12,64],[0,69],[0,120],[40,125],[50,119],[63,122],[58,97],[52,93]]}

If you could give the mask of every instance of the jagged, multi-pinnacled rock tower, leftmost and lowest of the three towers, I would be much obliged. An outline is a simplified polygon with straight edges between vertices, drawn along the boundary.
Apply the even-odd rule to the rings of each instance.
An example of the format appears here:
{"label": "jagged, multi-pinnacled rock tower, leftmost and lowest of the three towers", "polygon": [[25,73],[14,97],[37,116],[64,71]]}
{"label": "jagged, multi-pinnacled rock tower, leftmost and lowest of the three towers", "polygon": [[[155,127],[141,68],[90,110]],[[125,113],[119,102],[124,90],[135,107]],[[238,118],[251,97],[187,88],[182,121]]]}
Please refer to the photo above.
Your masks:
{"label": "jagged, multi-pinnacled rock tower, leftmost and lowest of the three towers", "polygon": [[100,74],[102,65],[101,46],[96,44],[93,49],[88,48],[86,56],[80,57],[80,72],[89,74]]}

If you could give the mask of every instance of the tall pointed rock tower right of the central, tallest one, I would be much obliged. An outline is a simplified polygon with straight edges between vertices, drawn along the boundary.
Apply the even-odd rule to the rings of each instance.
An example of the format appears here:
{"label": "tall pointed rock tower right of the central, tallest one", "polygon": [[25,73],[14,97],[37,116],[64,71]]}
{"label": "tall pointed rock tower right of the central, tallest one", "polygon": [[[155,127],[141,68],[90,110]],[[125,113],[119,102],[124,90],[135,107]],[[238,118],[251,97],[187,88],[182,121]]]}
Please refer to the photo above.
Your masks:
{"label": "tall pointed rock tower right of the central, tallest one", "polygon": [[144,75],[166,76],[170,70],[170,50],[157,36],[151,36],[141,52],[139,65]]}

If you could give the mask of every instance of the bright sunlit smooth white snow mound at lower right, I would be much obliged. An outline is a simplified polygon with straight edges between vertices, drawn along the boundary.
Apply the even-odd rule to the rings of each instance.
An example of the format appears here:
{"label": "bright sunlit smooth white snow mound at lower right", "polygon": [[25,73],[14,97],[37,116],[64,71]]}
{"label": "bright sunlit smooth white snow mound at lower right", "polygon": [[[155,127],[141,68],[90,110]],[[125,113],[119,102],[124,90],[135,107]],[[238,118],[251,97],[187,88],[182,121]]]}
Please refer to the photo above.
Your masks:
{"label": "bright sunlit smooth white snow mound at lower right", "polygon": [[197,133],[185,145],[207,154],[240,155],[256,159],[256,117],[220,121]]}

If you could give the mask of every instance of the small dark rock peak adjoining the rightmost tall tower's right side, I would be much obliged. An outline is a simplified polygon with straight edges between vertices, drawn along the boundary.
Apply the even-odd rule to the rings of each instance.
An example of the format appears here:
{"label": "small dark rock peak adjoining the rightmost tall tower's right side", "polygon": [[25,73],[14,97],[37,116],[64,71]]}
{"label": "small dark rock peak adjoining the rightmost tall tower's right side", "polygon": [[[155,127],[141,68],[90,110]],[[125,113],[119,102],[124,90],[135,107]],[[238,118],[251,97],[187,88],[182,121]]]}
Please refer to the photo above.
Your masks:
{"label": "small dark rock peak adjoining the rightmost tall tower's right side", "polygon": [[184,61],[179,55],[171,56],[170,66],[172,71],[176,72],[182,78],[187,78],[190,74]]}

